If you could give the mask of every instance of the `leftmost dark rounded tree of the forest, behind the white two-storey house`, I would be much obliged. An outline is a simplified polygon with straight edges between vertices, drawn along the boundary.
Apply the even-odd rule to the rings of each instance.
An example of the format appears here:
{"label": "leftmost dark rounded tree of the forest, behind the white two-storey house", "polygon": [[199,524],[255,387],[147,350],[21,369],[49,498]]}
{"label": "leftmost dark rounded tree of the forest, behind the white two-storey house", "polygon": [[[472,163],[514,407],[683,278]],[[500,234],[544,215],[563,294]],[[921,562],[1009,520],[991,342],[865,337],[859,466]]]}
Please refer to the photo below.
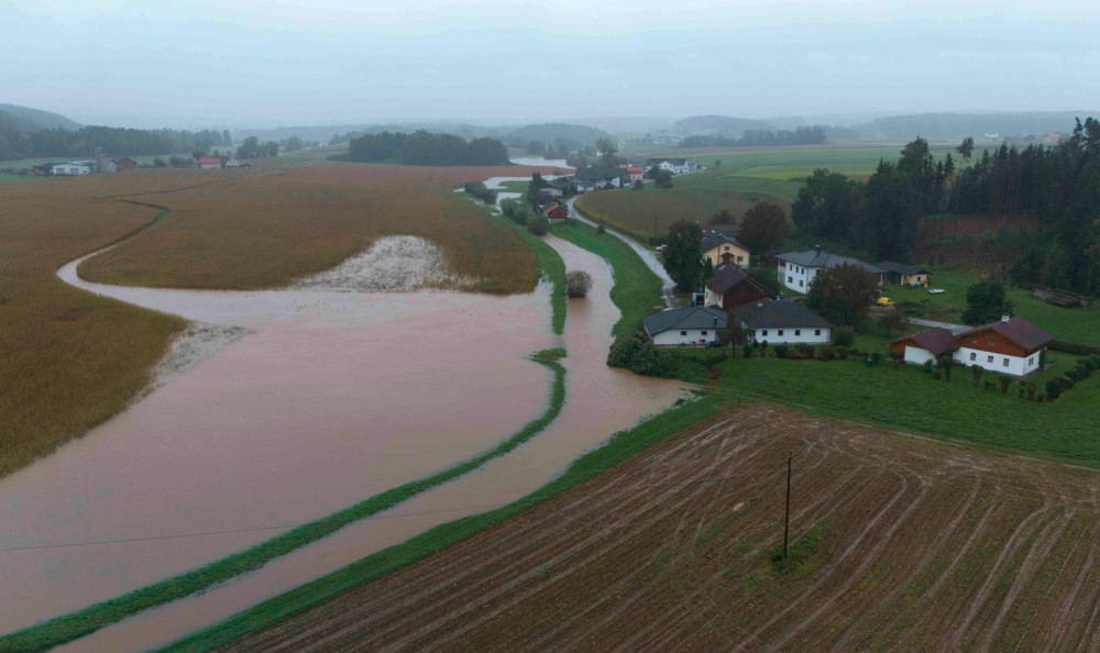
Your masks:
{"label": "leftmost dark rounded tree of the forest, behind the white two-storey house", "polygon": [[859,218],[860,199],[855,181],[840,173],[818,168],[799,189],[791,219],[805,232],[843,240]]}

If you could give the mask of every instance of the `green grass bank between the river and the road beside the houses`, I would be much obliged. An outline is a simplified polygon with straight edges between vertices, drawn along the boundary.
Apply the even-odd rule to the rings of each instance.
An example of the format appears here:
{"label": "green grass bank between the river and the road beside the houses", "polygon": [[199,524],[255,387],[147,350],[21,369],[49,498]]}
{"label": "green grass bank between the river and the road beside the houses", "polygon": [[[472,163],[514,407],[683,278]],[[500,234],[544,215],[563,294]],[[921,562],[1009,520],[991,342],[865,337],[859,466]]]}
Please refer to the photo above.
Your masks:
{"label": "green grass bank between the river and the road beside the houses", "polygon": [[664,306],[661,279],[649,269],[646,262],[630,245],[620,239],[600,231],[580,220],[568,220],[550,228],[550,232],[574,245],[603,257],[612,266],[615,285],[612,301],[622,317],[612,329],[618,337],[641,328],[641,319],[653,312],[654,307]]}

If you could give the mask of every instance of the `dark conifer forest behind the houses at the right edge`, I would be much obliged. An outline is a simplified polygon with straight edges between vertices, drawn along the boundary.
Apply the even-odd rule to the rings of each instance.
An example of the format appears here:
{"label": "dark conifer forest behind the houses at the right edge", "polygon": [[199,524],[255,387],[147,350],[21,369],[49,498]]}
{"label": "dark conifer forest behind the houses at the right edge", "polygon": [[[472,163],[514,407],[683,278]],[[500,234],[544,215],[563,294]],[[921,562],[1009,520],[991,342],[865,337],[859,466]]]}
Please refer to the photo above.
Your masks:
{"label": "dark conifer forest behind the houses at the right edge", "polygon": [[[917,137],[897,162],[879,162],[866,184],[818,169],[792,207],[804,232],[846,241],[880,259],[906,259],[920,220],[972,215],[996,225],[1015,218],[1033,224],[1027,233],[1002,230],[997,237],[1019,251],[1009,270],[1016,284],[1044,284],[1094,292],[1100,262],[1100,121],[1078,120],[1057,145],[1019,150],[1002,144],[974,154],[967,137],[936,162]],[[972,161],[971,161],[972,159]]]}

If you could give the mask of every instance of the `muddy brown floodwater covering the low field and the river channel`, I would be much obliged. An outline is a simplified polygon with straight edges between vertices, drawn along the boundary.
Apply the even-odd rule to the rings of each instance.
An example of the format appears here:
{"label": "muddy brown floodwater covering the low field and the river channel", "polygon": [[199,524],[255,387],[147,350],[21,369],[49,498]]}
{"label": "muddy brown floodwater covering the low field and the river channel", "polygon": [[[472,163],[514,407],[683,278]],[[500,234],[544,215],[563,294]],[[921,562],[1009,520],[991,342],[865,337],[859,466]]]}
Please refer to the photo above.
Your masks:
{"label": "muddy brown floodwater covering the low field and the river channel", "polygon": [[604,365],[618,310],[598,257],[548,236],[594,278],[550,333],[546,287],[457,292],[206,292],[67,281],[191,320],[254,330],[54,455],[0,480],[0,633],[195,568],[468,458],[542,412],[563,344],[566,402],[509,454],[206,593],[72,650],[170,642],[431,525],[515,500],[684,395]]}

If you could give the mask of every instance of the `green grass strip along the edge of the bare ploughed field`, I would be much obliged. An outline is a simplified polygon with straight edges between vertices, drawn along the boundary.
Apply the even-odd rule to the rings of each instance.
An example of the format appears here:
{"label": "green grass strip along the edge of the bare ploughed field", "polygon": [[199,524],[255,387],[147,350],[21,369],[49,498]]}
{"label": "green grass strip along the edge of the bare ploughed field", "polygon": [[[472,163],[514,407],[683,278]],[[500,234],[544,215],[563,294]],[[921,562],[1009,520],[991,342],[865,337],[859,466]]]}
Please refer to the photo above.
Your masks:
{"label": "green grass strip along the edge of the bare ploughed field", "polygon": [[275,626],[279,620],[290,615],[321,604],[341,591],[374,580],[384,574],[499,523],[527,508],[537,506],[645,451],[652,444],[683,431],[696,421],[714,414],[724,401],[724,398],[711,395],[667,410],[632,429],[616,433],[600,449],[574,461],[561,476],[513,503],[490,512],[440,524],[406,542],[369,555],[328,576],[268,599],[221,623],[180,640],[165,650],[208,651],[229,644],[251,632]]}

